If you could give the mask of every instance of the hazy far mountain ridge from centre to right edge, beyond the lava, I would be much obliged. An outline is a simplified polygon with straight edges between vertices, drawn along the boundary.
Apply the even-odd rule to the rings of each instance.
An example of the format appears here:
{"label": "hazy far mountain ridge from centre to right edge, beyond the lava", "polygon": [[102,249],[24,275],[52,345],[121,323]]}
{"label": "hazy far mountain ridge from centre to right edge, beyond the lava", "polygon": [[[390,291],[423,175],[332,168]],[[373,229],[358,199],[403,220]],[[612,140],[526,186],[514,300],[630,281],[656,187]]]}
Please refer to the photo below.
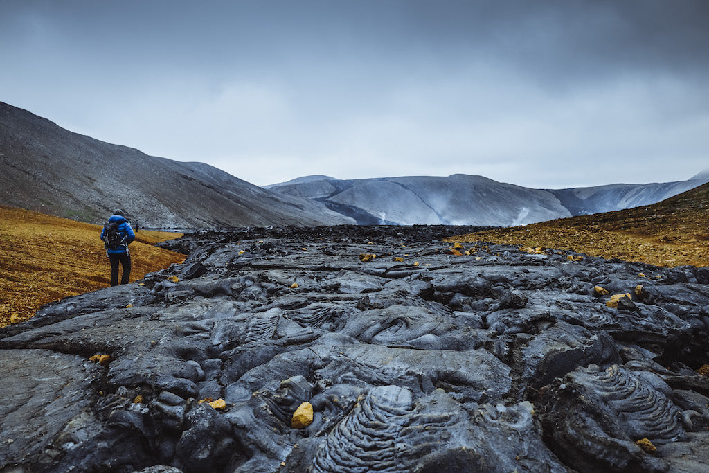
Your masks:
{"label": "hazy far mountain ridge from centre to right edge, beyond the lava", "polygon": [[306,176],[267,189],[323,202],[358,223],[515,226],[654,204],[709,182],[706,174],[680,182],[556,190],[466,174],[352,180]]}

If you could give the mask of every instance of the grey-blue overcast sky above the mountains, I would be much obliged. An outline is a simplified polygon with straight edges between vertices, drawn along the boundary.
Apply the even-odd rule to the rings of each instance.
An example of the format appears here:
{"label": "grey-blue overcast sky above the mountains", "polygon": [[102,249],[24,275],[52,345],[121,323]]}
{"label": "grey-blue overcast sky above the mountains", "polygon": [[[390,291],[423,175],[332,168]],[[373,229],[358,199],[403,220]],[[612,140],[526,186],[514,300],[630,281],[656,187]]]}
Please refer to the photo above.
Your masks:
{"label": "grey-blue overcast sky above the mountains", "polygon": [[0,101],[253,184],[709,167],[707,0],[1,0]]}

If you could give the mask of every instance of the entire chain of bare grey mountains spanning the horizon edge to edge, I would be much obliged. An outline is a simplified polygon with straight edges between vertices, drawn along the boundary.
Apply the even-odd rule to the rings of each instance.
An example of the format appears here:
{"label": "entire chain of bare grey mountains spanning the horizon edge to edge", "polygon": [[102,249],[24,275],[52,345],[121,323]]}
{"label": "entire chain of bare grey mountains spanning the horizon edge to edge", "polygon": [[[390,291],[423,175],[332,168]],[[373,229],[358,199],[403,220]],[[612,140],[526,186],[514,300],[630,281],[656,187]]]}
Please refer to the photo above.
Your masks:
{"label": "entire chain of bare grey mountains spanning the horizon edge to edge", "polygon": [[72,133],[0,102],[0,204],[101,223],[124,208],[159,228],[342,223],[515,226],[654,204],[709,182],[529,189],[481,176],[340,180],[264,188],[200,162],[178,162]]}

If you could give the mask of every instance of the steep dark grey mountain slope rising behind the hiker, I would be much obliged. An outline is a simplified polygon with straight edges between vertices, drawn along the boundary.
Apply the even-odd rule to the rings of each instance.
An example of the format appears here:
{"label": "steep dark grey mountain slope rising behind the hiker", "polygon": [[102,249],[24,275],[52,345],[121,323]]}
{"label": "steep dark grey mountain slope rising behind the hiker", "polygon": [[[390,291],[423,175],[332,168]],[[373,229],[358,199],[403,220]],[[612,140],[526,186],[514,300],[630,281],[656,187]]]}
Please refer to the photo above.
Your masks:
{"label": "steep dark grey mountain slope rising behind the hiker", "polygon": [[0,102],[0,204],[89,223],[123,208],[141,226],[354,223],[200,162],[177,162],[72,133]]}

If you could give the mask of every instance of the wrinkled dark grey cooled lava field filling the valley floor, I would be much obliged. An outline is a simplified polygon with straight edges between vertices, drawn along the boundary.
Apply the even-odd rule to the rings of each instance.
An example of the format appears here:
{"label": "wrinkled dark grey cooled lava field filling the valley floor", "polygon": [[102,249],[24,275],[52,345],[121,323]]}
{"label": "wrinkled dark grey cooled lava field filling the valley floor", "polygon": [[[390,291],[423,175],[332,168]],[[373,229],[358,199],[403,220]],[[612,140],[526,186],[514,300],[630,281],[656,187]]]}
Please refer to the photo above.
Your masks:
{"label": "wrinkled dark grey cooled lava field filling the valley floor", "polygon": [[449,254],[469,230],[165,244],[0,330],[0,472],[707,471],[709,268]]}

